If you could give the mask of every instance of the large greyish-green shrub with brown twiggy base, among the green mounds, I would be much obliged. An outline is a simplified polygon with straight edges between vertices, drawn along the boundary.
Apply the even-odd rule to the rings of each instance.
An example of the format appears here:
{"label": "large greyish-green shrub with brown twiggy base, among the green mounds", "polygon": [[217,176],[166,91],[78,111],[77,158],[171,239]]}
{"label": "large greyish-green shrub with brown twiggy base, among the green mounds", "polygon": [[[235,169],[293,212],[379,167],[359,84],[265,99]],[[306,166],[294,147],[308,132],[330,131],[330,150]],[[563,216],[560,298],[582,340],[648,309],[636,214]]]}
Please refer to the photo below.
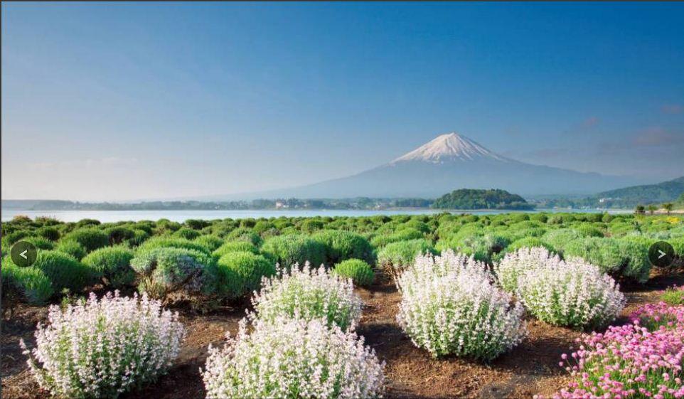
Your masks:
{"label": "large greyish-green shrub with brown twiggy base, among the green mounds", "polygon": [[213,295],[218,274],[212,257],[185,248],[158,247],[138,250],[131,267],[140,276],[138,289],[151,297]]}

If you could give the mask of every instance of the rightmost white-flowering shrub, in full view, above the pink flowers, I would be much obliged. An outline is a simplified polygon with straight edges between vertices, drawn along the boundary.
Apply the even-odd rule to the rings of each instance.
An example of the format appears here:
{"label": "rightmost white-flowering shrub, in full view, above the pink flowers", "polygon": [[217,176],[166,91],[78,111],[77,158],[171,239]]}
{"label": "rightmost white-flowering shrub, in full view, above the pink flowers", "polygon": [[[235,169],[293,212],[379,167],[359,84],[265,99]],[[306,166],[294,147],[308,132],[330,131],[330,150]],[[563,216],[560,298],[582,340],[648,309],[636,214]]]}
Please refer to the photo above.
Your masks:
{"label": "rightmost white-flowering shrub, in full view, above the pink flowers", "polygon": [[581,258],[526,272],[518,277],[517,295],[538,319],[576,328],[604,326],[626,303],[619,284]]}

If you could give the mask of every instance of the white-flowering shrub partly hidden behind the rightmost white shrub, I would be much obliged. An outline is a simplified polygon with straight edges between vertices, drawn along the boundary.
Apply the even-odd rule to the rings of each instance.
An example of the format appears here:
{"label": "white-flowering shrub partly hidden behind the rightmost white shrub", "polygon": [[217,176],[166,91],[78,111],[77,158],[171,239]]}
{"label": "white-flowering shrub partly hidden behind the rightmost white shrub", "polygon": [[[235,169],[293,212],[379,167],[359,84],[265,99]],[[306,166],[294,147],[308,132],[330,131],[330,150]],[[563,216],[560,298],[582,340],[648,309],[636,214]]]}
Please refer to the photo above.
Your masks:
{"label": "white-flowering shrub partly hidden behind the rightmost white shrub", "polygon": [[501,288],[513,293],[518,289],[518,278],[521,275],[530,270],[553,267],[561,262],[558,255],[544,247],[525,247],[507,253],[501,262],[494,265],[494,272]]}

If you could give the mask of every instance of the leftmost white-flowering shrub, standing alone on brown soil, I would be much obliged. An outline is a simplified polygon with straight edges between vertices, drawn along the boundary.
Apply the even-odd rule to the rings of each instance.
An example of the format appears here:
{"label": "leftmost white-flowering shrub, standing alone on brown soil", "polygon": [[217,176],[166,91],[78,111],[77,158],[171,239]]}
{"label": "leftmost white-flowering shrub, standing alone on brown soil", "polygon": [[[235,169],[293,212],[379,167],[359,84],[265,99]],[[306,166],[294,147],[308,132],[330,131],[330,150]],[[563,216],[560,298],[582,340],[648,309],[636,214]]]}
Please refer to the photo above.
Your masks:
{"label": "leftmost white-flowering shrub, standing alone on brown soil", "polygon": [[42,388],[62,398],[117,398],[171,366],[183,339],[178,314],[161,302],[115,292],[65,310],[50,307],[38,324],[28,366]]}

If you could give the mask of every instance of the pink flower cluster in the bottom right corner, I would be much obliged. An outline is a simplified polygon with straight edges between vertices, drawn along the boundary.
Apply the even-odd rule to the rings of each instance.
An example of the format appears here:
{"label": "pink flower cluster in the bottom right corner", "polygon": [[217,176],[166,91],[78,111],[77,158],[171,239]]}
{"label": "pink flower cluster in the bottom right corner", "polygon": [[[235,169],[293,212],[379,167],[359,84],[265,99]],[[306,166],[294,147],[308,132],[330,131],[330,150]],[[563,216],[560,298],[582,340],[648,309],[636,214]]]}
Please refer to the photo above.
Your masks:
{"label": "pink flower cluster in the bottom right corner", "polygon": [[[684,398],[683,314],[681,306],[649,304],[632,314],[632,324],[577,339],[579,349],[560,362],[575,381],[553,399]],[[656,318],[668,321],[651,324]]]}

